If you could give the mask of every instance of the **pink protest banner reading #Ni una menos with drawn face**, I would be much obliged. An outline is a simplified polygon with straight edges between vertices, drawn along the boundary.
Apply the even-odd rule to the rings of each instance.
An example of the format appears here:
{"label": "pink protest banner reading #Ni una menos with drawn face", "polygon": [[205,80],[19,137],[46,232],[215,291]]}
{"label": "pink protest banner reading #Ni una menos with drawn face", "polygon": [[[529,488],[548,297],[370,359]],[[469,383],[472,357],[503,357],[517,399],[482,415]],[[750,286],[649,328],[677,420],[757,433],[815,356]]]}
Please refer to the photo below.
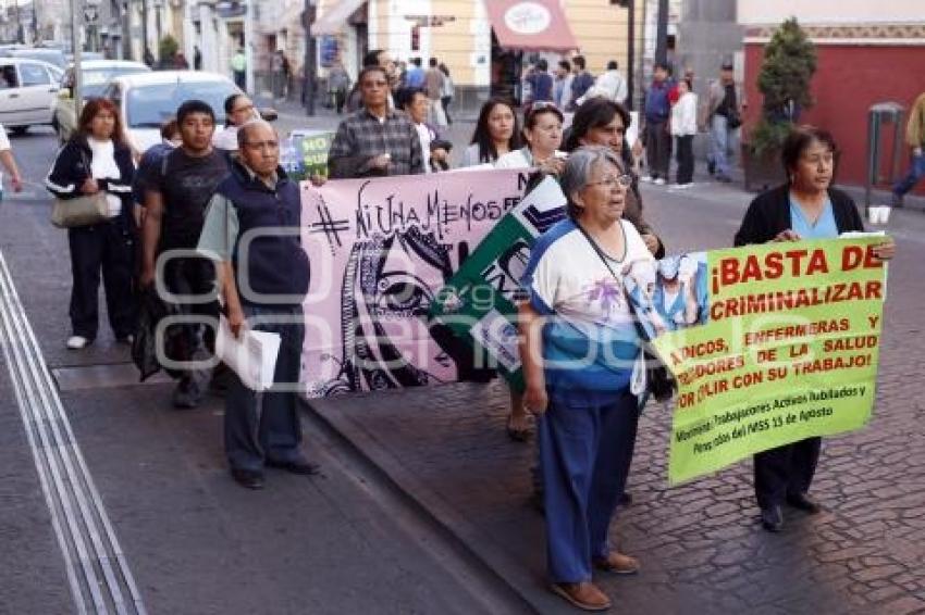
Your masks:
{"label": "pink protest banner reading #Ni una menos with drawn face", "polygon": [[491,170],[303,183],[307,397],[456,381],[471,350],[430,325],[428,309],[526,179]]}

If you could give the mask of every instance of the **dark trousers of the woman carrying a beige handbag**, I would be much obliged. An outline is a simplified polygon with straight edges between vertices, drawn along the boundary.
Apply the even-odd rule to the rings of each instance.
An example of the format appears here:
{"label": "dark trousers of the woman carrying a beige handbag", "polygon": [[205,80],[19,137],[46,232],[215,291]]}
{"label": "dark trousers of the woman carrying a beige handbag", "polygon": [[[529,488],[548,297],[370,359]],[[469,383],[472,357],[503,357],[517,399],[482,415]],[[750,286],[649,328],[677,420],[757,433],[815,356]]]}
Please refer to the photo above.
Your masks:
{"label": "dark trousers of the woman carrying a beige handbag", "polygon": [[73,276],[70,313],[74,335],[89,340],[97,337],[100,271],[112,332],[116,338],[134,334],[135,235],[116,219],[67,229],[67,244]]}

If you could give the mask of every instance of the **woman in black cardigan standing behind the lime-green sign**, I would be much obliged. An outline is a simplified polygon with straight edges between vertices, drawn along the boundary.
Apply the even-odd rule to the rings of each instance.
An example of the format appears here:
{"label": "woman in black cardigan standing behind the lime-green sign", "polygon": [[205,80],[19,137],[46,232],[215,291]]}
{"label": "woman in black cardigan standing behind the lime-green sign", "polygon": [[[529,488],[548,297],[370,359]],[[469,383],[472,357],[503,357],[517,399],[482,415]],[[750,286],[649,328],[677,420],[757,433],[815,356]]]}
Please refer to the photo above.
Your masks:
{"label": "woman in black cardigan standing behind the lime-green sign", "polygon": [[[810,126],[794,128],[782,151],[788,181],[752,201],[736,234],[736,246],[835,238],[864,230],[854,201],[831,187],[837,158],[830,134]],[[895,252],[891,239],[875,249],[884,261]],[[822,438],[807,438],[754,456],[755,498],[768,531],[784,528],[784,503],[810,514],[819,511],[809,490],[821,445]]]}

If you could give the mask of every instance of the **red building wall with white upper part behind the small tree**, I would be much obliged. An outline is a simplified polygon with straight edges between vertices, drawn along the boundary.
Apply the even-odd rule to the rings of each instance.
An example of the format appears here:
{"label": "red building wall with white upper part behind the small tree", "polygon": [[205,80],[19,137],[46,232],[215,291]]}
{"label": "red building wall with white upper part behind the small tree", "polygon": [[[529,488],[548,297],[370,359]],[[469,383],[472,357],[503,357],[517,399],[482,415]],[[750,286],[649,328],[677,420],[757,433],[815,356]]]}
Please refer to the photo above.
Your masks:
{"label": "red building wall with white upper part behind the small tree", "polygon": [[[842,152],[838,180],[863,185],[867,173],[869,108],[880,102],[898,102],[908,109],[925,90],[922,1],[739,0],[738,15],[745,28],[745,96],[755,102],[747,111],[745,131],[761,112],[756,79],[764,46],[778,24],[795,16],[816,45],[818,55],[812,84],[815,104],[801,115],[800,122],[829,129]],[[881,147],[889,151],[891,143],[883,142]],[[900,161],[899,166],[904,168],[905,161]],[[881,171],[881,176],[889,175],[888,170]]]}

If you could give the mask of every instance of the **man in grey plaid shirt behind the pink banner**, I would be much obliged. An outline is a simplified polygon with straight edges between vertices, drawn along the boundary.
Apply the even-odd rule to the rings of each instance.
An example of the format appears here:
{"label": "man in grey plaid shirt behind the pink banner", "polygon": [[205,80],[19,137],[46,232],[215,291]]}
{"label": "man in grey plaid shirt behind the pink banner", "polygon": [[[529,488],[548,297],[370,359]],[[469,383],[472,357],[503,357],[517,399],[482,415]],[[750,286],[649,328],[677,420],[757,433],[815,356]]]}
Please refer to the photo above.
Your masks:
{"label": "man in grey plaid shirt behind the pink banner", "polygon": [[360,73],[362,108],[337,127],[328,165],[331,179],[424,172],[421,143],[405,113],[388,109],[388,77],[379,66]]}

